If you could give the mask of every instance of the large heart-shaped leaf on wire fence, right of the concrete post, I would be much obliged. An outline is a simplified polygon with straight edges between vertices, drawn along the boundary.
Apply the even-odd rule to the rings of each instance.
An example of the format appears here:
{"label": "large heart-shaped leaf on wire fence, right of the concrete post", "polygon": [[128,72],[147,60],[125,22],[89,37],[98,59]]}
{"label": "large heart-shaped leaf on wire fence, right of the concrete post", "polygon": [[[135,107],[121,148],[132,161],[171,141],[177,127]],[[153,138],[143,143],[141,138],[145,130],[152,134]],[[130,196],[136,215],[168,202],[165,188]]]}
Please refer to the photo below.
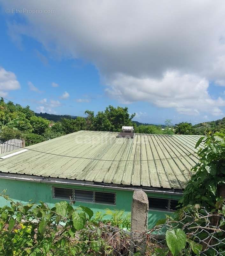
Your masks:
{"label": "large heart-shaped leaf on wire fence, right of the concrete post", "polygon": [[178,255],[185,248],[186,242],[187,236],[182,229],[178,228],[166,231],[166,243],[173,256]]}

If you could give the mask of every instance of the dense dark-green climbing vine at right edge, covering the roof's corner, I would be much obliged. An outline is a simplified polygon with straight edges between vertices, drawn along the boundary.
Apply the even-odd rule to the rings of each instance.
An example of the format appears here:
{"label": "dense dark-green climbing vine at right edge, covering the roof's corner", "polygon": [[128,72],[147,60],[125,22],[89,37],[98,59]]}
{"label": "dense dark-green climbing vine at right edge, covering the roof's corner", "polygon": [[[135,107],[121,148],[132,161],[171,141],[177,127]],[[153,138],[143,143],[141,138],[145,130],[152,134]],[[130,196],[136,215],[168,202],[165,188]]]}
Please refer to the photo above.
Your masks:
{"label": "dense dark-green climbing vine at right edge, covering the roof's corner", "polygon": [[198,151],[199,163],[192,168],[193,175],[188,182],[182,206],[200,204],[208,210],[216,209],[220,200],[219,187],[225,183],[225,133],[208,133],[201,137],[196,147],[203,143]]}

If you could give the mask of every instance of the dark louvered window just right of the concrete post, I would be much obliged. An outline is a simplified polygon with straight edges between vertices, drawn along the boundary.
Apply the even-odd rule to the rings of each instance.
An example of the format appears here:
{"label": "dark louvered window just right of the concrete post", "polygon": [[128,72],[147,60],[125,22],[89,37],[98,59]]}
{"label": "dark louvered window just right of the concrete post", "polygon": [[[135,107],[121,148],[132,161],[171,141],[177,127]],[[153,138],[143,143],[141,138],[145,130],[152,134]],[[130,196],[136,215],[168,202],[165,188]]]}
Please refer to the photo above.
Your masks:
{"label": "dark louvered window just right of the concrete post", "polygon": [[178,200],[171,200],[165,198],[148,197],[149,199],[149,210],[160,210],[160,211],[175,211],[178,205]]}

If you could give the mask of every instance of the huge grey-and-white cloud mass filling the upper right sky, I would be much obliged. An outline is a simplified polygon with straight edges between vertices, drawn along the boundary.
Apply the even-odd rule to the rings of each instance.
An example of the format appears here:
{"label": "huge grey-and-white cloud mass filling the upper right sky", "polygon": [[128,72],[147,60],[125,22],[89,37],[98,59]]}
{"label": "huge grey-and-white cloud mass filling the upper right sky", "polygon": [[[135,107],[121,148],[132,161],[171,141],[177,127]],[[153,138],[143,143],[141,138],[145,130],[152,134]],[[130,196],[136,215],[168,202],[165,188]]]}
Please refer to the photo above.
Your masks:
{"label": "huge grey-and-white cloud mass filling the upper right sky", "polygon": [[25,13],[26,24],[9,23],[11,34],[19,40],[32,36],[58,55],[91,61],[108,96],[182,114],[222,114],[224,100],[213,99],[208,86],[209,81],[225,85],[224,1],[77,3],[3,2],[5,8],[54,6],[57,15],[40,19]]}

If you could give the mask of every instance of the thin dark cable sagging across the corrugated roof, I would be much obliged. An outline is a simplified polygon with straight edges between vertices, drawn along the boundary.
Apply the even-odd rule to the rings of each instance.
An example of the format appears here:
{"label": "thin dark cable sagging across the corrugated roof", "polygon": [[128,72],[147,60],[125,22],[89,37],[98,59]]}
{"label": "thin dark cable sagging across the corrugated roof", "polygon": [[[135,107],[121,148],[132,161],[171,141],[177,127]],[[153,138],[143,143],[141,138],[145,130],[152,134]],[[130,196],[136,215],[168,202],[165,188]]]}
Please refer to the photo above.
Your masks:
{"label": "thin dark cable sagging across the corrugated roof", "polygon": [[[9,143],[5,143],[6,145],[10,145],[10,146],[15,146],[13,144],[9,144]],[[17,148],[23,148],[23,147],[19,147],[19,146],[15,146]],[[38,153],[42,153],[42,154],[48,154],[48,155],[53,155],[53,156],[63,156],[63,157],[70,157],[70,158],[78,158],[78,159],[87,159],[87,160],[97,160],[97,161],[106,161],[106,162],[145,162],[145,161],[160,161],[160,160],[168,160],[168,159],[174,159],[174,158],[179,158],[179,157],[185,157],[185,156],[194,156],[194,154],[197,153],[191,153],[189,155],[182,155],[182,156],[175,156],[175,157],[168,157],[168,158],[159,158],[159,159],[144,159],[144,160],[109,160],[109,159],[98,159],[98,158],[89,158],[89,157],[80,157],[80,156],[65,156],[65,155],[59,155],[59,154],[54,154],[54,153],[48,153],[48,152],[43,152],[43,151],[39,151],[39,150],[35,150],[35,149],[30,149],[30,148],[24,148],[30,151],[34,151],[34,152],[38,152]]]}

